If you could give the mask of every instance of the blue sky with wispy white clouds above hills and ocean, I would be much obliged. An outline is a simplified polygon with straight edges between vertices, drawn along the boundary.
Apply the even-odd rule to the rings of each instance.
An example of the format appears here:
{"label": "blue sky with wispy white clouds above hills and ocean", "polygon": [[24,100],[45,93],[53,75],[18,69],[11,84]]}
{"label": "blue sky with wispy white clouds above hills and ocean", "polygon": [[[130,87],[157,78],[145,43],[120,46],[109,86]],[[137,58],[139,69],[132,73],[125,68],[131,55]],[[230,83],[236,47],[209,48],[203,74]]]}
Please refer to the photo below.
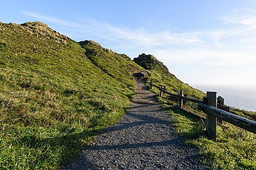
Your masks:
{"label": "blue sky with wispy white clouds above hills and ocean", "polygon": [[256,86],[256,0],[1,0],[0,22],[28,21],[130,58],[153,54],[188,84]]}

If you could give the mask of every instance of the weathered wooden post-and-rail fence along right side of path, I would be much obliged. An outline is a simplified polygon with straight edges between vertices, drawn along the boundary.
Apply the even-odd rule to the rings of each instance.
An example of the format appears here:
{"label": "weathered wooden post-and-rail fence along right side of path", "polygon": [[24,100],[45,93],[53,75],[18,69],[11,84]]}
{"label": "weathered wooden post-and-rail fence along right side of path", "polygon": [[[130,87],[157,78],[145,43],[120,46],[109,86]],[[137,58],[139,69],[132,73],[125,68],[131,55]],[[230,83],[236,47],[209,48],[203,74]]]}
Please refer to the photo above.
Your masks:
{"label": "weathered wooden post-and-rail fence along right side of path", "polygon": [[166,87],[159,87],[153,84],[151,79],[150,88],[152,88],[152,86],[160,90],[159,96],[162,96],[162,94],[167,94],[172,97],[176,97],[176,99],[179,99],[180,108],[183,107],[183,101],[191,101],[192,103],[196,103],[197,107],[206,114],[205,126],[207,135],[208,138],[212,139],[213,141],[216,141],[217,118],[220,121],[223,120],[229,122],[230,124],[236,125],[242,129],[251,131],[252,133],[256,134],[256,122],[227,112],[229,109],[225,107],[224,99],[221,96],[217,97],[217,92],[208,91],[207,96],[204,97],[203,100],[198,100],[187,97],[183,94],[183,90],[180,90],[179,95],[172,94],[171,92],[166,91]]}

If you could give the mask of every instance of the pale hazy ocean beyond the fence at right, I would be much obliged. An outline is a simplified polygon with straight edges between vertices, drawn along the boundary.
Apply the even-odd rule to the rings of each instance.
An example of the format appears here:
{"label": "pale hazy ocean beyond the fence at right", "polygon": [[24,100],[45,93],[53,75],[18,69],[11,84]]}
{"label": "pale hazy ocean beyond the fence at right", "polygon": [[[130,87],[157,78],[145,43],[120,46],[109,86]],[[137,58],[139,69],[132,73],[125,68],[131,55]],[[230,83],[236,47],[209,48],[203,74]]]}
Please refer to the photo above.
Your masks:
{"label": "pale hazy ocean beyond the fence at right", "polygon": [[225,99],[225,104],[230,107],[256,112],[256,87],[221,87],[191,84],[203,92],[216,91],[217,96]]}

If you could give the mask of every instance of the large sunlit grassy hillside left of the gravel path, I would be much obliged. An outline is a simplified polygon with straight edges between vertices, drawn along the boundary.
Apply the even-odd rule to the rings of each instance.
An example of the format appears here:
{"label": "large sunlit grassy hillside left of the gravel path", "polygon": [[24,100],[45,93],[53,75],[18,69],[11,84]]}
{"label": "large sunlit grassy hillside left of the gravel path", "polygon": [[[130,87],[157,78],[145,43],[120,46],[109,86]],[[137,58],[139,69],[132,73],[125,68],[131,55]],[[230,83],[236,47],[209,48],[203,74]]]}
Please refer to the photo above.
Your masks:
{"label": "large sunlit grassy hillside left of the gravel path", "polygon": [[1,169],[54,169],[125,113],[141,67],[95,50],[130,67],[112,73],[46,24],[0,23]]}

